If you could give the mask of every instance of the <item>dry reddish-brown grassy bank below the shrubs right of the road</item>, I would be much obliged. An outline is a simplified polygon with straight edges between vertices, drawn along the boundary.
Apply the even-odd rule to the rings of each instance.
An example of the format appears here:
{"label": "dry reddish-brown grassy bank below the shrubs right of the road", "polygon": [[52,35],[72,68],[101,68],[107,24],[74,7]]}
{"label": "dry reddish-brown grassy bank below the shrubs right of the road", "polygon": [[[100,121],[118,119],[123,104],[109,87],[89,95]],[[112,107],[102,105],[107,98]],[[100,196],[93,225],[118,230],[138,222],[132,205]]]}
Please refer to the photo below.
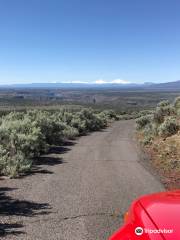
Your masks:
{"label": "dry reddish-brown grassy bank below the shrubs right of the road", "polygon": [[[144,136],[138,133],[140,142]],[[154,139],[143,146],[150,156],[153,167],[158,171],[167,189],[180,188],[180,132],[171,137]]]}

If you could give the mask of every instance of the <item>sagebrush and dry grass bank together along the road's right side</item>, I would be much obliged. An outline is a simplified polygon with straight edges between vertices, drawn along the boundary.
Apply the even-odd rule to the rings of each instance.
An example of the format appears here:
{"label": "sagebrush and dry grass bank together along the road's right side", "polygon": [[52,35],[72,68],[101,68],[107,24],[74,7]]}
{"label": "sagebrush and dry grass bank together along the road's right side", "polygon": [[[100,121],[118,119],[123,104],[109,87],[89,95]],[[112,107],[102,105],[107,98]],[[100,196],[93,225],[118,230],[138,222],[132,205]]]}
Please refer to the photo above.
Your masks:
{"label": "sagebrush and dry grass bank together along the road's right side", "polygon": [[180,187],[180,97],[136,120],[138,138],[168,188]]}

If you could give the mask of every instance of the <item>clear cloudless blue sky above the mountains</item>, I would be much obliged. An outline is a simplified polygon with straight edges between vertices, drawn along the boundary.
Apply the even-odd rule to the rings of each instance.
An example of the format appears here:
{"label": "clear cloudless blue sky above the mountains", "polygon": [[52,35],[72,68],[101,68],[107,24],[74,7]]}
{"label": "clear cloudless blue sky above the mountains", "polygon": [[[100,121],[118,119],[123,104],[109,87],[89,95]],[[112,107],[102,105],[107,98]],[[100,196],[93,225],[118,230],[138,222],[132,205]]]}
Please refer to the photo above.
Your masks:
{"label": "clear cloudless blue sky above the mountains", "polygon": [[179,0],[0,0],[1,84],[116,79],[180,79]]}

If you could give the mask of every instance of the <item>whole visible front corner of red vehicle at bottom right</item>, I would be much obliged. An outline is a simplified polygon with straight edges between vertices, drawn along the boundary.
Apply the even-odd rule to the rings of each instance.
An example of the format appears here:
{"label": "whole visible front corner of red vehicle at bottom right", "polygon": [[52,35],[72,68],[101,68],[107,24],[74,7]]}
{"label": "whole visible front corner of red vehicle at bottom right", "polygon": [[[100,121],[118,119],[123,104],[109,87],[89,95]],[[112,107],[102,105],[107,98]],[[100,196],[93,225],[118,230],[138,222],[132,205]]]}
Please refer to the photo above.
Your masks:
{"label": "whole visible front corner of red vehicle at bottom right", "polygon": [[109,240],[180,240],[180,190],[143,196]]}

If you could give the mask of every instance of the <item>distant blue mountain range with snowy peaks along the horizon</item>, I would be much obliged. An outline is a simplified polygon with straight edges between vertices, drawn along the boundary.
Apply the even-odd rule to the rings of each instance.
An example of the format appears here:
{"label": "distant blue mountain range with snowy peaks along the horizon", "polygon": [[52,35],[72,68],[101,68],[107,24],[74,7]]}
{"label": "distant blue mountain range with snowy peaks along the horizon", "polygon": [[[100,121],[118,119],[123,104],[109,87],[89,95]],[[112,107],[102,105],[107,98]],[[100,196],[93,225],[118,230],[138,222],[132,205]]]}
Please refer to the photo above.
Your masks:
{"label": "distant blue mountain range with snowy peaks along the horizon", "polygon": [[162,90],[162,91],[180,91],[180,80],[166,83],[151,83],[143,84],[120,84],[120,83],[31,83],[31,84],[12,84],[0,85],[0,89],[139,89],[139,90]]}

